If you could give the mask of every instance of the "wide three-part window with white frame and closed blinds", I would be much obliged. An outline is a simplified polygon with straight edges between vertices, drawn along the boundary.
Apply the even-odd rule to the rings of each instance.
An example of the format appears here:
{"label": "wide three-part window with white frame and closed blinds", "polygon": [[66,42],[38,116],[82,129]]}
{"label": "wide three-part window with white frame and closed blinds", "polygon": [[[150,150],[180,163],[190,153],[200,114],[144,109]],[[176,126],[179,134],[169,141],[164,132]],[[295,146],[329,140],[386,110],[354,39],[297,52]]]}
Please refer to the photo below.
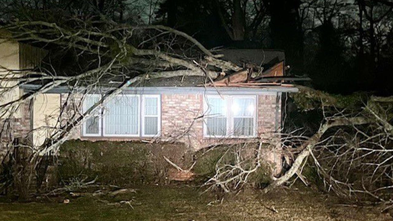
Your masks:
{"label": "wide three-part window with white frame and closed blinds", "polygon": [[[84,111],[101,99],[88,95]],[[101,126],[102,125],[102,126]],[[83,136],[156,136],[161,129],[159,95],[117,95],[103,110],[90,115],[83,124]]]}

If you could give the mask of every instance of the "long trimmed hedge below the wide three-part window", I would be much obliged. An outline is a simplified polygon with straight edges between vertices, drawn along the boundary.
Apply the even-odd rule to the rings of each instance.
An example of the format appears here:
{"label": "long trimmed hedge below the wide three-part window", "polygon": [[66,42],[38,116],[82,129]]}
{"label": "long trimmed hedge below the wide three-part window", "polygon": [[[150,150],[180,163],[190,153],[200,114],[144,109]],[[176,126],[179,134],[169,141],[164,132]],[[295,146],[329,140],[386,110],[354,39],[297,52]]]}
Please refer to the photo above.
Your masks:
{"label": "long trimmed hedge below the wide three-part window", "polygon": [[182,166],[188,155],[183,144],[72,140],[61,146],[57,171],[65,181],[98,177],[97,182],[117,185],[164,182],[171,165],[163,156]]}

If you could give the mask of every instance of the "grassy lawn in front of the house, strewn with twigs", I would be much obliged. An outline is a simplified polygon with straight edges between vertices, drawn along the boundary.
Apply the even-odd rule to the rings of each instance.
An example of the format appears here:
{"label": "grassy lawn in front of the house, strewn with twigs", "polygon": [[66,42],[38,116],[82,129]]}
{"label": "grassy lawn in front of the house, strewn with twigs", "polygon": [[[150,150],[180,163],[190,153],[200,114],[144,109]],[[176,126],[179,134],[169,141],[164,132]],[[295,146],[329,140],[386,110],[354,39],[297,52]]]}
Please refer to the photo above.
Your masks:
{"label": "grassy lawn in front of the house, strewn with twigs", "polygon": [[[222,194],[200,195],[200,189],[184,185],[134,188],[136,193],[113,198],[67,197],[70,199],[68,204],[62,203],[64,197],[44,203],[9,203],[7,199],[0,198],[0,220],[391,220],[389,214],[382,214],[377,208],[344,206],[336,197],[301,186],[278,188],[263,196],[255,190],[245,190],[237,195],[223,195],[223,200]],[[131,200],[133,208],[128,204],[116,203],[121,200]]]}

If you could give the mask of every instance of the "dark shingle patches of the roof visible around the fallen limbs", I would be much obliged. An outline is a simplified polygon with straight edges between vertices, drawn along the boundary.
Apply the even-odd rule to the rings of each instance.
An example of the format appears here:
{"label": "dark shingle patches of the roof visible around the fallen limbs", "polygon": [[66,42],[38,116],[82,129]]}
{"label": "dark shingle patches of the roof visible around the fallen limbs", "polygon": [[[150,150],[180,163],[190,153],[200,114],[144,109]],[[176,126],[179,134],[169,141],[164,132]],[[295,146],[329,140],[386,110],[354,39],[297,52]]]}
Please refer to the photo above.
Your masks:
{"label": "dark shingle patches of the roof visible around the fallen limbs", "polygon": [[[246,64],[262,65],[265,70],[270,68],[274,64],[284,61],[285,54],[283,51],[277,50],[262,50],[262,49],[224,49],[218,53],[224,54],[223,60],[231,61],[240,67],[246,66]],[[92,69],[87,64],[95,64],[91,57],[77,57],[74,52],[68,51],[67,53],[56,53],[52,52],[44,59],[41,64],[41,68],[48,70],[55,70],[55,73],[59,76],[73,76],[80,72]],[[97,62],[97,61],[95,61]],[[50,64],[49,64],[50,63]],[[53,69],[51,69],[53,68]],[[38,69],[38,68],[37,68]],[[130,74],[124,70],[123,76],[114,76],[110,78],[101,79],[103,83],[108,87],[116,87],[125,79],[130,77]],[[134,74],[134,73],[133,73]],[[136,82],[134,87],[193,87],[196,85],[203,85],[209,83],[209,80],[203,76],[184,76],[184,77],[170,77],[170,78],[156,78],[156,79],[144,79],[140,82]],[[34,82],[34,84],[43,84],[42,81]]]}

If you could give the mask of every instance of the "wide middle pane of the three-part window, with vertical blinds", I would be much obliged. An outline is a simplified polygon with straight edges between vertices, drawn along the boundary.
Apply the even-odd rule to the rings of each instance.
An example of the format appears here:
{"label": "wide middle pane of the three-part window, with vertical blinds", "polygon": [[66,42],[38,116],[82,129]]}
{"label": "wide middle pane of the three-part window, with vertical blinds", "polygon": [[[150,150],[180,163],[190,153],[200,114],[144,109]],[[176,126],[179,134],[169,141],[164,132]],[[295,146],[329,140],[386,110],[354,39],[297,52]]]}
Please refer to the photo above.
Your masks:
{"label": "wide middle pane of the three-part window, with vertical blinds", "polygon": [[116,96],[105,105],[105,134],[138,134],[138,97]]}

